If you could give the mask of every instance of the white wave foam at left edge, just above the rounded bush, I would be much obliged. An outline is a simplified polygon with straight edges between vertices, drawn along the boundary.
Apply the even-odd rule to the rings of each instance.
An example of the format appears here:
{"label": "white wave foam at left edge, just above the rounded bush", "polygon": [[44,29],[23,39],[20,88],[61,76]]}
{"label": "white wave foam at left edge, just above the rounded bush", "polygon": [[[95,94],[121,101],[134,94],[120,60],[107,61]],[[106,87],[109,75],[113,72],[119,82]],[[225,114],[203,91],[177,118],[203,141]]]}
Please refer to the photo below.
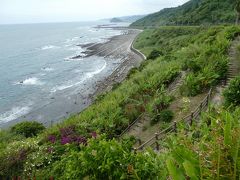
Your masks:
{"label": "white wave foam at left edge, just above the rounded bush", "polygon": [[31,110],[30,107],[13,107],[10,111],[7,111],[3,114],[0,114],[0,123],[6,123],[12,120],[15,120],[27,113]]}

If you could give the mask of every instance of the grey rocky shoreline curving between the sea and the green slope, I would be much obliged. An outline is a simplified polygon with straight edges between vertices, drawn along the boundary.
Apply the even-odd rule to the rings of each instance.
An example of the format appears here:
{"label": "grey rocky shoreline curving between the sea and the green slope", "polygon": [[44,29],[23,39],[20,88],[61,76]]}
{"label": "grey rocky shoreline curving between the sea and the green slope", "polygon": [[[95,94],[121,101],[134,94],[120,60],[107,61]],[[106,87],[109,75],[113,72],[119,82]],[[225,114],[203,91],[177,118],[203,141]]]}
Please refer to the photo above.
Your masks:
{"label": "grey rocky shoreline curving between the sea and the green slope", "polygon": [[[119,30],[119,27],[112,28]],[[134,48],[132,47],[134,40],[141,30],[129,28],[121,28],[121,30],[124,31],[123,34],[113,36],[107,39],[104,43],[77,45],[86,49],[86,57],[96,56],[104,58],[106,61],[108,61],[108,59],[115,60],[117,68],[110,72],[109,76],[95,82],[91,87],[84,84],[84,86],[86,86],[85,92],[78,92],[76,96],[62,97],[61,94],[58,94],[55,97],[52,97],[52,103],[57,104],[58,107],[56,112],[53,107],[48,108],[47,105],[43,105],[39,110],[30,112],[23,117],[2,124],[1,128],[9,128],[24,120],[36,120],[47,127],[52,124],[60,123],[72,115],[81,113],[94,102],[97,95],[110,91],[114,84],[122,82],[133,67],[140,66],[144,58],[141,54],[134,51]],[[76,59],[77,58],[80,57],[76,57]],[[66,102],[66,98],[68,100],[71,99],[71,101]],[[54,119],[36,119],[36,117],[40,117],[44,113],[51,113],[51,116],[53,116]],[[59,113],[61,113],[60,116]]]}

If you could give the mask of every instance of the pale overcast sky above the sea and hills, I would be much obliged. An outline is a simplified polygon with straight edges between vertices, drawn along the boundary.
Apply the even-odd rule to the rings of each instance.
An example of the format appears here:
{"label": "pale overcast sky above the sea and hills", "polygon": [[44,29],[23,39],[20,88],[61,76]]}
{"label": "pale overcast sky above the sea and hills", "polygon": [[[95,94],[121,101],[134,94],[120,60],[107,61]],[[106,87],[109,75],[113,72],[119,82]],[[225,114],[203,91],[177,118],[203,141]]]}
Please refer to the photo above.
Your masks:
{"label": "pale overcast sky above the sea and hills", "polygon": [[0,23],[89,21],[148,14],[188,0],[0,0]]}

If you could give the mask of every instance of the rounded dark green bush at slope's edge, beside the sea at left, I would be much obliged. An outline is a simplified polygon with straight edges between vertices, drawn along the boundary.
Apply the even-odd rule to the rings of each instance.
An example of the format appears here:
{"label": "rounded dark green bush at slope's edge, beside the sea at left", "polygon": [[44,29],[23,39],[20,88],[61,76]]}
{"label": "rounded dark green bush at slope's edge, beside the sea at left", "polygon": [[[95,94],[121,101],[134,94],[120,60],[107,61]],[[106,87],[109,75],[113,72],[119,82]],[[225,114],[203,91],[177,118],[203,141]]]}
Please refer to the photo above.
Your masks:
{"label": "rounded dark green bush at slope's edge, beside the sea at left", "polygon": [[45,127],[38,122],[32,121],[32,122],[21,122],[19,124],[16,124],[15,126],[11,127],[11,131],[28,137],[33,137],[42,132],[45,129]]}

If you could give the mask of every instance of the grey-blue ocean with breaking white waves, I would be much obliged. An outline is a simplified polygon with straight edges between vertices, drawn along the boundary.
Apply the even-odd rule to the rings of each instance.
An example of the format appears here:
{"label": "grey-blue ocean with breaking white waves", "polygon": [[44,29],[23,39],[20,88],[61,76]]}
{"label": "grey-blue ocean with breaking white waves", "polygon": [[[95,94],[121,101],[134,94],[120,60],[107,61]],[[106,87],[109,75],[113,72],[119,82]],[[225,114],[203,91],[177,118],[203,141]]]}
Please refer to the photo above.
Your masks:
{"label": "grey-blue ocean with breaking white waves", "polygon": [[102,43],[123,33],[94,28],[100,24],[0,25],[0,127],[20,119],[49,125],[88,105],[94,84],[110,75],[116,63],[98,56],[71,57],[85,55],[79,44]]}

